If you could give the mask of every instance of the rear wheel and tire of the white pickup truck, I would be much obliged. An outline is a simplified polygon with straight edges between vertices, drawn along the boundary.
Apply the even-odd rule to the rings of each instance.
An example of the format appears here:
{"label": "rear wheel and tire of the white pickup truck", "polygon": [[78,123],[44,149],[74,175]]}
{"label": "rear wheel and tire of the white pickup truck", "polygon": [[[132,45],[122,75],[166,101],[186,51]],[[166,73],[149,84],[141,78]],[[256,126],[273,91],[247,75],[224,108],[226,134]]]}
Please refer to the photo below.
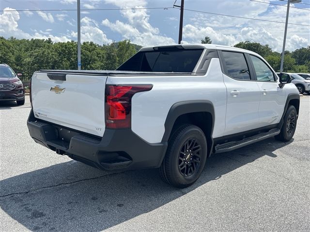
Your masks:
{"label": "rear wheel and tire of the white pickup truck", "polygon": [[190,124],[183,125],[169,140],[159,169],[160,175],[168,184],[186,188],[202,174],[206,158],[207,142],[202,129]]}

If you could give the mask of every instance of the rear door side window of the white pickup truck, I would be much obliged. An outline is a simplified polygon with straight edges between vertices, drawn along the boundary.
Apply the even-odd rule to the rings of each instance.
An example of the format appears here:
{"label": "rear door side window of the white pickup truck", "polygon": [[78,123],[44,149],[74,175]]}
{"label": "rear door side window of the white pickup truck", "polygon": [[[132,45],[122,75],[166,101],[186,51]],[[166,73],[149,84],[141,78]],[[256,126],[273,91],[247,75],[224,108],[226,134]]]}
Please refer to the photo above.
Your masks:
{"label": "rear door side window of the white pickup truck", "polygon": [[250,80],[248,64],[243,53],[222,52],[226,65],[225,74],[237,80]]}

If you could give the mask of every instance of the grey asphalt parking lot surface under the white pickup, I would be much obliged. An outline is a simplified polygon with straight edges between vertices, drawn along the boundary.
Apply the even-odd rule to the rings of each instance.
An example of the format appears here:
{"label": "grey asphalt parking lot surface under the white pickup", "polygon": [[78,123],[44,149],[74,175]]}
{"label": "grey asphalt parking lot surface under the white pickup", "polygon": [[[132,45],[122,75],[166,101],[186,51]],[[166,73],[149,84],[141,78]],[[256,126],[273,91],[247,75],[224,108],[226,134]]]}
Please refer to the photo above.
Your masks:
{"label": "grey asphalt parking lot surface under the white pickup", "polygon": [[108,173],[36,144],[23,106],[0,102],[0,231],[310,231],[310,95],[294,140],[207,160],[176,189],[158,170]]}

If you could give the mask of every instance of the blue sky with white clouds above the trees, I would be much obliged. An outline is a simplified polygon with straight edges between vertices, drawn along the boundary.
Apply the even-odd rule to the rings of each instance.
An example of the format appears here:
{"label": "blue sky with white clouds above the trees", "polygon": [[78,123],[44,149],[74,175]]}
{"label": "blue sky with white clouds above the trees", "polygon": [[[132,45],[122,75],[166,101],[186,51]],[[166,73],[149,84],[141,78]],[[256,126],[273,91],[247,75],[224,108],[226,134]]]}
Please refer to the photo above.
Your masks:
{"label": "blue sky with white clouds above the trees", "polygon": [[[175,4],[180,5],[181,0]],[[174,0],[81,0],[81,39],[103,44],[129,39],[140,45],[177,43],[179,9]],[[279,4],[279,5],[273,5]],[[234,45],[249,40],[280,51],[284,24],[206,14],[227,14],[271,21],[285,21],[287,2],[280,0],[185,0],[183,40],[199,43],[209,36],[213,43]],[[310,0],[291,4],[290,23],[310,25]],[[0,0],[0,35],[8,38],[50,37],[54,42],[77,40],[76,0]],[[295,8],[293,8],[295,7]],[[297,9],[301,8],[301,9]],[[37,10],[18,12],[14,10]],[[44,10],[64,11],[44,11]],[[116,9],[98,10],[94,9]],[[310,27],[288,25],[287,50],[310,44]]]}

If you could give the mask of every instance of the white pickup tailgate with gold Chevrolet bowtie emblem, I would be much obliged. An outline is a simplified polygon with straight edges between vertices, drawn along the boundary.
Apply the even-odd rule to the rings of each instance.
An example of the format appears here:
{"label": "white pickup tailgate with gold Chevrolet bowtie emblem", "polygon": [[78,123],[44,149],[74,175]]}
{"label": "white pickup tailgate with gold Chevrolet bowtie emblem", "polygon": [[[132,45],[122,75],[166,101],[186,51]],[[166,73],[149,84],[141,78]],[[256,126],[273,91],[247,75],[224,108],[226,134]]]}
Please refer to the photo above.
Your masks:
{"label": "white pickup tailgate with gold Chevrolet bowtie emblem", "polygon": [[34,116],[102,137],[106,80],[107,76],[100,75],[34,73],[31,79]]}

